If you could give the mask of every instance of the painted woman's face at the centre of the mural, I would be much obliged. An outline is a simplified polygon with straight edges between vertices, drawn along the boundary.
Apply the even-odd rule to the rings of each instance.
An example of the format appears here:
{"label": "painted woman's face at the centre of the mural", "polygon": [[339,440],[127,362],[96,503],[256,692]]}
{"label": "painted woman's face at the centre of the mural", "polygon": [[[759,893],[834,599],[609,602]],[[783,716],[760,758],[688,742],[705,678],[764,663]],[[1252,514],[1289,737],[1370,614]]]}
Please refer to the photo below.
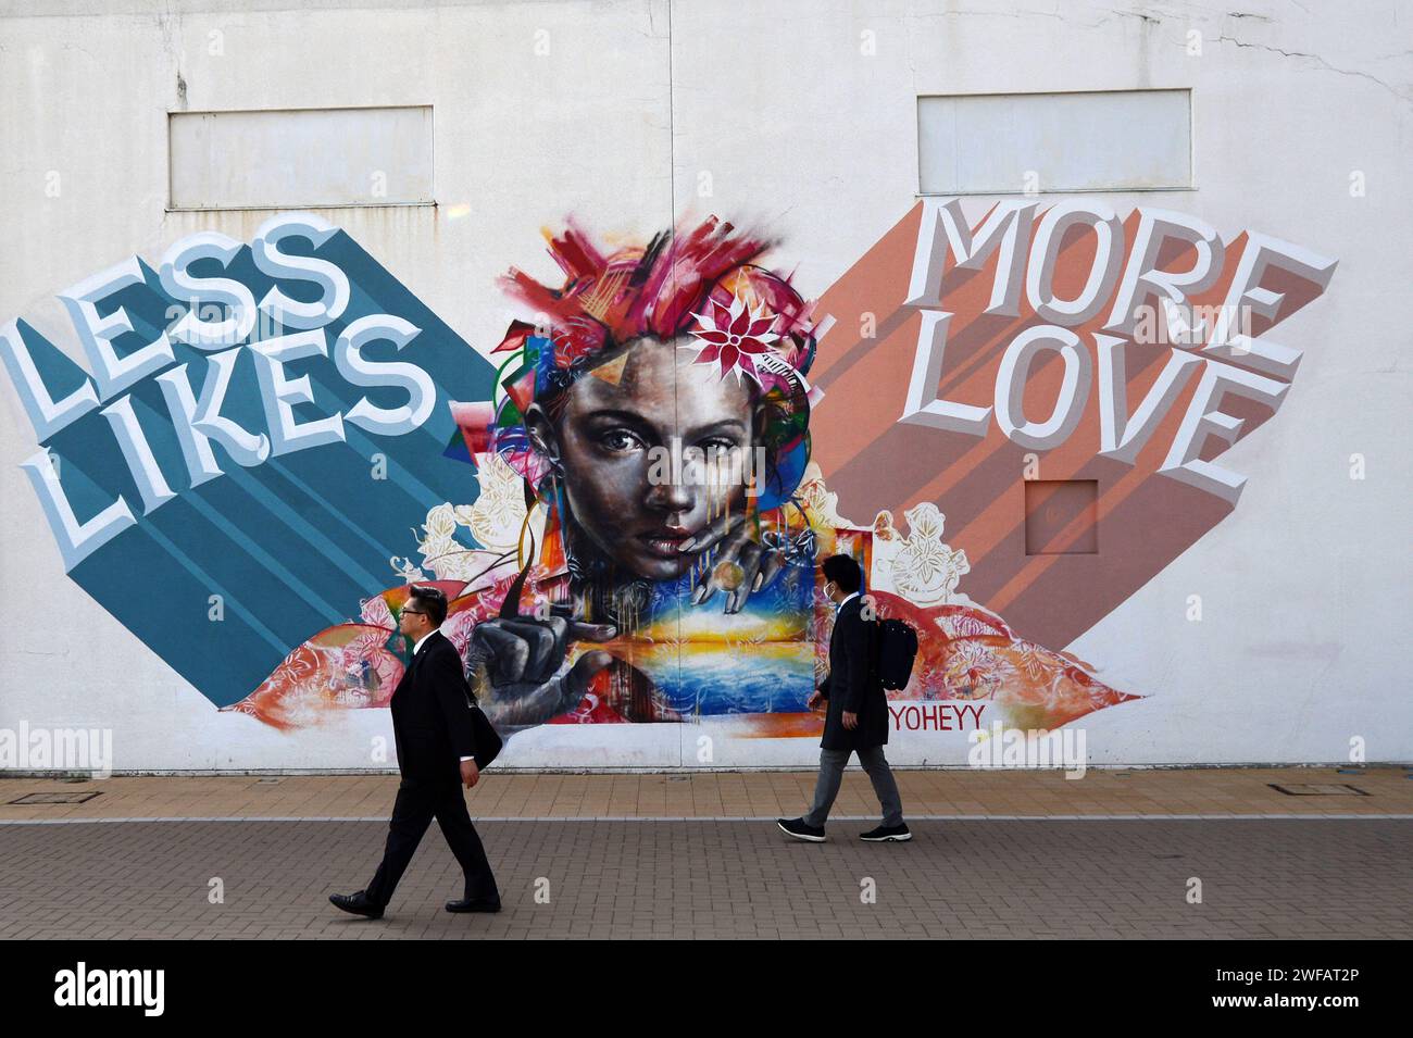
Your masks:
{"label": "painted woman's face at the centre of the mural", "polygon": [[740,480],[753,446],[753,405],[745,381],[694,364],[675,342],[640,339],[568,391],[558,428],[534,428],[558,456],[579,530],[620,568],[675,579],[697,559],[682,545],[729,508],[739,514]]}

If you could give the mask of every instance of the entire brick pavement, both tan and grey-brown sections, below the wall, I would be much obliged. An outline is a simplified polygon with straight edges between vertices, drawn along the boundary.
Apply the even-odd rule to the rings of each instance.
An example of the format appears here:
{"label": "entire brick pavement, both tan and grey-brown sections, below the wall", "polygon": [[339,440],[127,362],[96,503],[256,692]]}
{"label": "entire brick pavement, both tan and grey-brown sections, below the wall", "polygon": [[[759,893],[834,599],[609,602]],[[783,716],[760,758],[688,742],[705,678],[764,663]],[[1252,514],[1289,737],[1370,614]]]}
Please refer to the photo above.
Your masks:
{"label": "entire brick pavement, both tan and grey-brown sections, below the wall", "polygon": [[916,839],[863,845],[855,768],[814,846],[771,821],[812,772],[490,772],[468,804],[504,911],[442,911],[432,826],[376,922],[326,898],[370,878],[396,775],[8,778],[0,938],[1410,938],[1409,774],[899,771]]}

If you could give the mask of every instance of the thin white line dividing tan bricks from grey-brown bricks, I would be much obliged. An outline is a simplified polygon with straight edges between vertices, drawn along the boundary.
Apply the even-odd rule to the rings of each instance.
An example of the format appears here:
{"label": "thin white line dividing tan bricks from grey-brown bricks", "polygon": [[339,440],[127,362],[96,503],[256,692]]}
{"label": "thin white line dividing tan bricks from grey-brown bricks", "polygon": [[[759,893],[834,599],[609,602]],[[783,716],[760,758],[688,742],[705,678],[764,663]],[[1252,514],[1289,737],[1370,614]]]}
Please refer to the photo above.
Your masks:
{"label": "thin white line dividing tan bricks from grey-brown bricks", "polygon": [[[1409,822],[1413,815],[907,815],[910,822],[1348,822],[1348,821]],[[387,825],[386,815],[300,816],[300,815],[226,815],[182,818],[0,818],[4,825],[109,825],[114,822],[377,822]],[[473,822],[774,822],[767,815],[595,815],[567,818],[564,815],[486,815]],[[876,815],[831,815],[831,822],[876,822]]]}

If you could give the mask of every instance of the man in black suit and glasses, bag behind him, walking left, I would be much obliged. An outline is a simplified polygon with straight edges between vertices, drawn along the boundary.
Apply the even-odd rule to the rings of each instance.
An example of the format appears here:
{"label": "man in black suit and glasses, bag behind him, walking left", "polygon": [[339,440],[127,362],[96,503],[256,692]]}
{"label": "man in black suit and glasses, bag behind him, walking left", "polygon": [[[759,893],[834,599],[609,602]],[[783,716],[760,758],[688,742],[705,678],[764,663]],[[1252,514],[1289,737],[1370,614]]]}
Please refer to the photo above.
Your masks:
{"label": "man in black suit and glasses, bag behind him, walking left", "polygon": [[[476,828],[466,813],[462,785],[480,778],[476,768],[471,699],[461,654],[438,627],[447,619],[439,587],[414,586],[397,628],[413,640],[413,661],[393,692],[393,739],[403,772],[389,823],[387,849],[377,874],[357,894],[331,894],[345,912],[382,918],[432,818],[466,874],[465,897],[448,912],[499,912],[500,893]],[[459,758],[459,764],[458,764]]]}

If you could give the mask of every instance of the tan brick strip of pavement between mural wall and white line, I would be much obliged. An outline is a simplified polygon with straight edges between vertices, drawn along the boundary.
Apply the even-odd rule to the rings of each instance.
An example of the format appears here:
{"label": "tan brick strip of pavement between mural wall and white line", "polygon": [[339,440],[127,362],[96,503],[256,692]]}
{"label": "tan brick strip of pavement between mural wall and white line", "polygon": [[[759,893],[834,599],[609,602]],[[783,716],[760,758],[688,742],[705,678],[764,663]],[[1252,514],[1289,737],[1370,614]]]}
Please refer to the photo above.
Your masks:
{"label": "tan brick strip of pavement between mural wall and white line", "polygon": [[[910,818],[1061,815],[1413,815],[1407,768],[1091,768],[1057,771],[899,770]],[[1272,788],[1332,787],[1327,795]],[[1359,792],[1340,789],[1352,785]],[[65,782],[0,778],[0,822],[113,818],[387,818],[396,775],[116,777]],[[492,768],[466,794],[472,818],[777,818],[805,811],[812,771],[506,774]],[[31,794],[88,794],[83,804],[16,805]],[[836,816],[869,816],[877,802],[855,764]]]}

